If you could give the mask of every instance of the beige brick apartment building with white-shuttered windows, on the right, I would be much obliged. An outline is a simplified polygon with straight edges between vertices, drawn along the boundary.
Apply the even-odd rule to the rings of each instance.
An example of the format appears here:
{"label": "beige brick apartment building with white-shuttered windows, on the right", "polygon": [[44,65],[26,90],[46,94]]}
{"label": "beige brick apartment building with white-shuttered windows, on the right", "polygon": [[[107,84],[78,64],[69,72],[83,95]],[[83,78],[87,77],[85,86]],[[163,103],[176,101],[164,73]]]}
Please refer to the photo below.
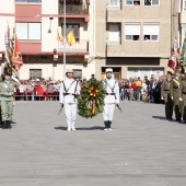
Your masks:
{"label": "beige brick apartment building with white-shuttered windows, on the right", "polygon": [[173,37],[178,33],[172,36],[172,3],[171,0],[96,1],[96,77],[104,78],[107,67],[114,69],[117,78],[164,74]]}

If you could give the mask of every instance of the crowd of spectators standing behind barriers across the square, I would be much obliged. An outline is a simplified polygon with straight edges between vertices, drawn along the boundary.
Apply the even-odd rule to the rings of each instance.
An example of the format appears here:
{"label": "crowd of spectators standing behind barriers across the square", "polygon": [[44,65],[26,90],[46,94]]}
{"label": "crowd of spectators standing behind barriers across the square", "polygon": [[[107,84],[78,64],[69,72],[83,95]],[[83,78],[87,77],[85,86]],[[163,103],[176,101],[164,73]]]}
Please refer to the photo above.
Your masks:
{"label": "crowd of spectators standing behind barriers across the square", "polygon": [[[96,80],[94,74],[92,80]],[[15,88],[15,101],[59,101],[59,86],[63,80],[53,81],[45,79],[23,80],[21,85]],[[77,79],[80,85],[86,83],[86,79]],[[162,103],[161,83],[163,77],[159,79],[146,75],[118,80],[120,101],[142,101],[148,103]]]}

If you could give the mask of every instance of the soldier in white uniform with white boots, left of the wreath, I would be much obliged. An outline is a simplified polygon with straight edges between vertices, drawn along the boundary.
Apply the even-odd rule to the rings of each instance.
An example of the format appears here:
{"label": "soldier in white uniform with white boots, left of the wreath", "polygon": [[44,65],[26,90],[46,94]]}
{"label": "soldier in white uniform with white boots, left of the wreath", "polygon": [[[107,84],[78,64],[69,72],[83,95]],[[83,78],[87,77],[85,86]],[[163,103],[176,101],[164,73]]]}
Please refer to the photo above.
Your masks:
{"label": "soldier in white uniform with white boots, left of the wreath", "polygon": [[80,94],[80,85],[73,79],[73,70],[68,69],[66,72],[67,79],[60,83],[60,104],[65,105],[65,114],[68,128],[67,130],[75,130],[77,119],[77,102]]}

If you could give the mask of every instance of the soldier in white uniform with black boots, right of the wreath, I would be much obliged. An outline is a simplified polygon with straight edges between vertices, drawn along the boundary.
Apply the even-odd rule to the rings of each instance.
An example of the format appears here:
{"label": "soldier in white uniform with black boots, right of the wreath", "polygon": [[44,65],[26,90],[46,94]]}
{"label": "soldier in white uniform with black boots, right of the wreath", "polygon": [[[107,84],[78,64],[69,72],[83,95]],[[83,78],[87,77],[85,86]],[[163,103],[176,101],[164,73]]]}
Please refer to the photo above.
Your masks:
{"label": "soldier in white uniform with black boots, right of the wreath", "polygon": [[113,78],[113,69],[107,68],[105,70],[106,79],[104,80],[106,96],[104,100],[105,106],[103,111],[103,119],[105,124],[104,130],[113,130],[111,128],[115,106],[119,104],[119,85],[118,82]]}

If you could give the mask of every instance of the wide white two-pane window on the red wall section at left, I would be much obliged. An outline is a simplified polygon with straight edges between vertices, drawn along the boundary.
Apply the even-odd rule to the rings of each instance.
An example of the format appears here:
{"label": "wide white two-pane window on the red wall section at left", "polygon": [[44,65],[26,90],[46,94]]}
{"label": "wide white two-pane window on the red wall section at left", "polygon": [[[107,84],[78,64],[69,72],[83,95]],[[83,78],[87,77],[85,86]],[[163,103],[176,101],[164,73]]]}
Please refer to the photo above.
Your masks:
{"label": "wide white two-pane window on the red wall section at left", "polygon": [[19,39],[40,40],[40,23],[16,23]]}

